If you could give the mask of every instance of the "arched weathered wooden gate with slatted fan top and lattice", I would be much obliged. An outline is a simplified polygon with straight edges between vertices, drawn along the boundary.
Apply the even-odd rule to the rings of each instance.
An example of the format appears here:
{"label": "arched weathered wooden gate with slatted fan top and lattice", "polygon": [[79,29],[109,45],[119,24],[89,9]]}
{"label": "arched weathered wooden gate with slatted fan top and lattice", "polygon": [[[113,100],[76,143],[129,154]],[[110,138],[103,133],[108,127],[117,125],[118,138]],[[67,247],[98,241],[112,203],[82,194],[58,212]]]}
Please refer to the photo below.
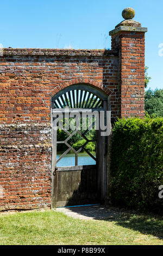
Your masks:
{"label": "arched weathered wooden gate with slatted fan top and lattice", "polygon": [[104,201],[108,106],[106,94],[90,85],[69,86],[52,97],[53,207]]}

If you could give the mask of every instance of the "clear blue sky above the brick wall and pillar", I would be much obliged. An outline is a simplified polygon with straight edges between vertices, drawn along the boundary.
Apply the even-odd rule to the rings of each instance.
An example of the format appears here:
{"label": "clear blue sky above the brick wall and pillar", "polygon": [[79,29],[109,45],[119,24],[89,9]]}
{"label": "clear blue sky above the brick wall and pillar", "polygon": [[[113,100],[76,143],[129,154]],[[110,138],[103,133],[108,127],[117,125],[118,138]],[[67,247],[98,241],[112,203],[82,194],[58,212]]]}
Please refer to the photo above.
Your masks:
{"label": "clear blue sky above the brick wall and pillar", "polygon": [[148,87],[163,88],[162,0],[3,1],[0,43],[4,47],[110,49],[109,31],[123,20],[126,7],[134,8],[134,19],[148,27],[146,66],[152,77]]}

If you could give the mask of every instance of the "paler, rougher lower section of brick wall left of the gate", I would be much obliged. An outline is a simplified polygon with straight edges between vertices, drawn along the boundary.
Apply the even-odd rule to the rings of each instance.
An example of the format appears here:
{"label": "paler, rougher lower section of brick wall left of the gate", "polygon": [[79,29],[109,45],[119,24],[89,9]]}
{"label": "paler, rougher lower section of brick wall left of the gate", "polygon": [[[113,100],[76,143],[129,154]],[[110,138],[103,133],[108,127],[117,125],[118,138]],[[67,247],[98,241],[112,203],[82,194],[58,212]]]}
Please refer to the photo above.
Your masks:
{"label": "paler, rougher lower section of brick wall left of the gate", "polygon": [[0,124],[0,134],[0,210],[51,206],[51,126]]}

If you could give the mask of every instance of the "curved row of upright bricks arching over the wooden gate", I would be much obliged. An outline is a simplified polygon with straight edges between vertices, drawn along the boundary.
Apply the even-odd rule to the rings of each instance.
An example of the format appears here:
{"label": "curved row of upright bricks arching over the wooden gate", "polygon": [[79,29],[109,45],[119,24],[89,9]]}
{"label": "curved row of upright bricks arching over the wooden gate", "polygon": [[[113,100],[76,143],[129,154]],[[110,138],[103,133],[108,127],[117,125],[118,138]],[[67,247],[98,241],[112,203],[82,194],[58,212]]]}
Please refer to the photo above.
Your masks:
{"label": "curved row of upright bricks arching over the wooden gate", "polygon": [[53,97],[56,93],[61,91],[62,89],[71,86],[71,85],[77,85],[77,84],[85,84],[85,85],[90,85],[92,87],[97,87],[98,90],[103,91],[106,96],[110,96],[112,91],[108,87],[104,87],[102,82],[97,82],[93,79],[86,79],[86,78],[78,78],[78,79],[72,79],[68,80],[66,82],[60,83],[57,87],[54,88],[54,90],[49,93],[51,97]]}

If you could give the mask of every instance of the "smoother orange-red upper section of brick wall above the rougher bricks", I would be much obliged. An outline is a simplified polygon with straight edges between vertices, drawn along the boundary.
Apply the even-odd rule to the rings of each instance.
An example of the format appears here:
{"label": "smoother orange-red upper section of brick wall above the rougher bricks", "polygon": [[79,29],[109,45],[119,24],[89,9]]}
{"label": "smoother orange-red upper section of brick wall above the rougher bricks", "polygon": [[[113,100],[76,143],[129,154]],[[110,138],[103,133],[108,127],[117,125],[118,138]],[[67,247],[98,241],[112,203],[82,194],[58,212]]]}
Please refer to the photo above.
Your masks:
{"label": "smoother orange-red upper section of brick wall above the rougher bricks", "polygon": [[108,87],[112,116],[117,116],[116,55],[104,50],[5,49],[0,57],[0,123],[49,122],[50,93],[80,79],[101,83],[101,90]]}

